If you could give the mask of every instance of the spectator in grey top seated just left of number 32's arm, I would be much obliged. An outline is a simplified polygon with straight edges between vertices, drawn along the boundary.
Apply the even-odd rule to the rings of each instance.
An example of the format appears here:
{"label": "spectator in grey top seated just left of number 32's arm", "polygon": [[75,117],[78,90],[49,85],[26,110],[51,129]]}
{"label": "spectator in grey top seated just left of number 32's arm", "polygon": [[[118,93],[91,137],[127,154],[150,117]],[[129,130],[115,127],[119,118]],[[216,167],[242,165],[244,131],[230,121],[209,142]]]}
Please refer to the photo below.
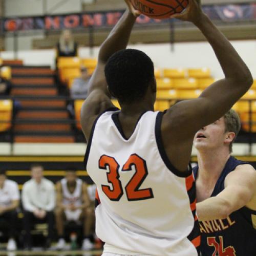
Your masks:
{"label": "spectator in grey top seated just left of number 32's arm", "polygon": [[70,89],[70,95],[73,99],[85,99],[88,95],[89,80],[91,75],[86,67],[81,67],[81,77],[76,78]]}

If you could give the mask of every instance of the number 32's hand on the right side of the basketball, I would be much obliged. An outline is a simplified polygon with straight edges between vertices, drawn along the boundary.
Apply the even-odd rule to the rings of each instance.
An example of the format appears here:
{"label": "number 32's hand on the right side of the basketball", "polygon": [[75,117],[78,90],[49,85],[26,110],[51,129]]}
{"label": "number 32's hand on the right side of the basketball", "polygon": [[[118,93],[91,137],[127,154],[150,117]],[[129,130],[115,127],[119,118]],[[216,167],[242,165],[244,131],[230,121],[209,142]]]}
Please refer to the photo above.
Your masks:
{"label": "number 32's hand on the right side of the basketball", "polygon": [[186,10],[182,13],[177,13],[170,18],[178,18],[187,22],[197,23],[203,16],[203,10],[201,7],[201,0],[189,0]]}

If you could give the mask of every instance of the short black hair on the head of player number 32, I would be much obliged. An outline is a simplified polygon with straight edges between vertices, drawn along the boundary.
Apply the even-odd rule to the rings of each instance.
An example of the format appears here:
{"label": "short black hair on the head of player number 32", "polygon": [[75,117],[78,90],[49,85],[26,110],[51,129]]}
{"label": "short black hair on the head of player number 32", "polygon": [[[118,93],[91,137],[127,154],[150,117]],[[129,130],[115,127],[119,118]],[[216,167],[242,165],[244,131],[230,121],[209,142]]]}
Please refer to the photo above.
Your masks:
{"label": "short black hair on the head of player number 32", "polygon": [[143,99],[154,79],[154,64],[144,52],[125,49],[114,53],[105,66],[110,93],[121,103]]}

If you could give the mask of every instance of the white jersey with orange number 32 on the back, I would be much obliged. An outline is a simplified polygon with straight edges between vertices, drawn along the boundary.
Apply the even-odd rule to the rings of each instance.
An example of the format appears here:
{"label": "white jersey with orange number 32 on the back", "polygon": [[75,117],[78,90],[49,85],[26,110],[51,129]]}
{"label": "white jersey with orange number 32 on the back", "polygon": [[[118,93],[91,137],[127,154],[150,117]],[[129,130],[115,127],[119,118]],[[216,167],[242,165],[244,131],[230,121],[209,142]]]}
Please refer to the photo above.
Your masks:
{"label": "white jersey with orange number 32 on the back", "polygon": [[119,112],[97,118],[84,158],[97,185],[96,234],[104,252],[198,255],[195,180],[191,168],[179,172],[163,150],[163,113],[145,112],[126,139]]}

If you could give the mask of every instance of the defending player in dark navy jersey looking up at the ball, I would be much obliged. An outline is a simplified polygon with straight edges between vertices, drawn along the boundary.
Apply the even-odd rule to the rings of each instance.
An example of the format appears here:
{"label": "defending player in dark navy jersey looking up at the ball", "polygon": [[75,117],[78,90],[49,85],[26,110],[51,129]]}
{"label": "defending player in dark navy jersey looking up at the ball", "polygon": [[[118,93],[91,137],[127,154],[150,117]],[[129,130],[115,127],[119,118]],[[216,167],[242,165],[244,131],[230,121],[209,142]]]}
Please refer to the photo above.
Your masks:
{"label": "defending player in dark navy jersey looking up at the ball", "polygon": [[195,136],[203,256],[256,253],[256,171],[230,156],[239,130],[239,116],[230,110]]}

